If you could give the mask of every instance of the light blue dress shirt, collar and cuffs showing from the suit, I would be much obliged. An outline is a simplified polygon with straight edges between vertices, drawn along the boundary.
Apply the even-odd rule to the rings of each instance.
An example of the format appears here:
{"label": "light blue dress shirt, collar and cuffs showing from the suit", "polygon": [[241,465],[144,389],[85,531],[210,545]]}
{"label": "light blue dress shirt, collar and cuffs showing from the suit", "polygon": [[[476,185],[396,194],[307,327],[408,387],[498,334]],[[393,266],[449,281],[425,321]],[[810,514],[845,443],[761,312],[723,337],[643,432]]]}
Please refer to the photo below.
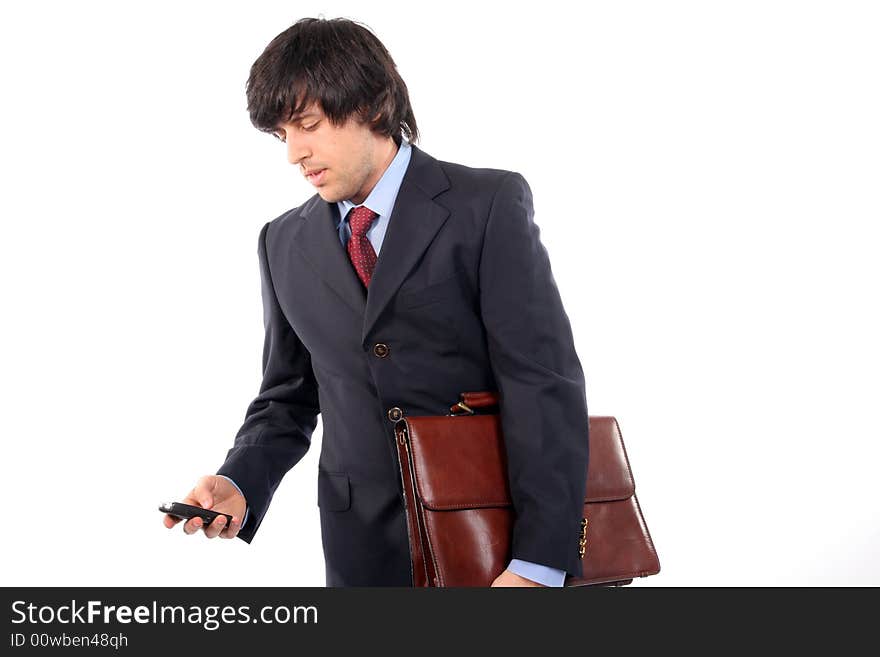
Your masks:
{"label": "light blue dress shirt, collar and cuffs showing from the suit", "polygon": [[[367,198],[364,199],[364,202],[361,203],[361,205],[365,205],[379,215],[373,220],[372,225],[367,230],[367,238],[370,240],[370,244],[373,245],[373,250],[376,252],[376,256],[379,255],[379,251],[382,249],[382,241],[385,239],[385,232],[388,230],[388,220],[391,217],[391,211],[394,209],[394,202],[397,200],[397,192],[400,191],[400,185],[403,182],[403,174],[406,173],[406,168],[409,166],[411,155],[412,147],[406,139],[402,139],[400,148],[397,149],[397,154],[394,156],[394,159],[391,160],[391,164],[385,169],[385,173],[382,174],[382,177],[379,179],[379,182],[376,183],[376,186],[373,187],[369,196],[367,196]],[[342,246],[345,247],[348,244],[348,240],[351,238],[351,226],[348,224],[348,212],[357,206],[351,201],[339,201],[336,203],[336,206],[339,208],[339,219],[336,224],[336,229],[339,232],[339,241],[342,242]],[[225,475],[220,476],[229,479],[229,477],[226,477]],[[232,481],[232,479],[229,479],[229,481],[238,489],[238,492],[241,493],[241,489],[238,488],[238,485]],[[242,493],[242,497],[244,497],[244,493]],[[247,522],[248,513],[249,511],[245,511],[244,521],[241,523],[242,526]],[[540,564],[532,563],[531,561],[513,559],[507,566],[507,569],[521,577],[530,579],[533,582],[538,582],[539,584],[544,584],[545,586],[562,586],[565,582],[564,570],[542,566]]]}

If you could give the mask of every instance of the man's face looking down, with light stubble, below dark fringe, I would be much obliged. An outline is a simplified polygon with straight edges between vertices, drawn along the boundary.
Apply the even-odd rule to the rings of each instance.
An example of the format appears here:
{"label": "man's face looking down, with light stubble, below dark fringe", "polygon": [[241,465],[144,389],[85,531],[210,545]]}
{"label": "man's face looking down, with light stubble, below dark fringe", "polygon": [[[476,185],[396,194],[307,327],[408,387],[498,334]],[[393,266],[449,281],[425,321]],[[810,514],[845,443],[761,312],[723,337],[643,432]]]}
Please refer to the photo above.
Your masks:
{"label": "man's face looking down, with light stubble, below dark fringe", "polygon": [[300,168],[322,199],[363,203],[397,152],[394,140],[372,132],[356,116],[335,126],[317,103],[279,124],[288,161]]}

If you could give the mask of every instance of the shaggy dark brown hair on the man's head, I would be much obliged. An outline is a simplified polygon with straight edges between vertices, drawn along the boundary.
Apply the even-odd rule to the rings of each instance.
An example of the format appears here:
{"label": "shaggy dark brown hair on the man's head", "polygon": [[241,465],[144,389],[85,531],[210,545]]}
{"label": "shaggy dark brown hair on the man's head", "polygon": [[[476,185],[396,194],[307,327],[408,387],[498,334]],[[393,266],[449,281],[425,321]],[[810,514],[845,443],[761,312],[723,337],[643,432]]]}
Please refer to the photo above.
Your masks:
{"label": "shaggy dark brown hair on the man's head", "polygon": [[274,132],[317,101],[334,125],[353,114],[400,143],[418,139],[409,93],[391,55],[365,26],[345,18],[303,18],[276,36],[251,66],[251,123]]}

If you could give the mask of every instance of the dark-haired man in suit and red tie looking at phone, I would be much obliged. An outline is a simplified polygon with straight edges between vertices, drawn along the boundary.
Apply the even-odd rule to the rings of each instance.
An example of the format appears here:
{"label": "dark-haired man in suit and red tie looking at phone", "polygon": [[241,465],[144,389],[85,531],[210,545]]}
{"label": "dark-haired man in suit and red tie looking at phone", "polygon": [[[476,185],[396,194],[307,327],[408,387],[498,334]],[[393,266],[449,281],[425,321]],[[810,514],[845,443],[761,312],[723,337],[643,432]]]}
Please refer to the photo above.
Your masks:
{"label": "dark-haired man in suit and red tie looking at phone", "polygon": [[233,516],[205,535],[253,540],[320,413],[327,585],[412,585],[394,423],[497,390],[516,520],[493,585],[580,575],[584,377],[526,181],[415,146],[406,85],[351,21],[279,34],[247,96],[317,194],[260,233],[263,381],[226,462],[184,500]]}

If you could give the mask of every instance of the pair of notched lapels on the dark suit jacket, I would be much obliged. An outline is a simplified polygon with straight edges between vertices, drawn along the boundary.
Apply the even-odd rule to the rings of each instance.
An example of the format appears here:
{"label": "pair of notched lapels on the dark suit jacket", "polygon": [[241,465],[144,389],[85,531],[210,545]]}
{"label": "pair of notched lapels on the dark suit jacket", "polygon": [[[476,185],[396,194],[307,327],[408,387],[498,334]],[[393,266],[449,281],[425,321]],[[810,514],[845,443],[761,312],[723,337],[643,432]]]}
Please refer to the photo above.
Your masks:
{"label": "pair of notched lapels on the dark suit jacket", "polygon": [[339,241],[334,204],[316,195],[303,208],[304,221],[293,244],[343,301],[363,316],[362,341],[449,217],[449,210],[433,200],[447,189],[449,180],[437,160],[412,146],[369,292]]}

